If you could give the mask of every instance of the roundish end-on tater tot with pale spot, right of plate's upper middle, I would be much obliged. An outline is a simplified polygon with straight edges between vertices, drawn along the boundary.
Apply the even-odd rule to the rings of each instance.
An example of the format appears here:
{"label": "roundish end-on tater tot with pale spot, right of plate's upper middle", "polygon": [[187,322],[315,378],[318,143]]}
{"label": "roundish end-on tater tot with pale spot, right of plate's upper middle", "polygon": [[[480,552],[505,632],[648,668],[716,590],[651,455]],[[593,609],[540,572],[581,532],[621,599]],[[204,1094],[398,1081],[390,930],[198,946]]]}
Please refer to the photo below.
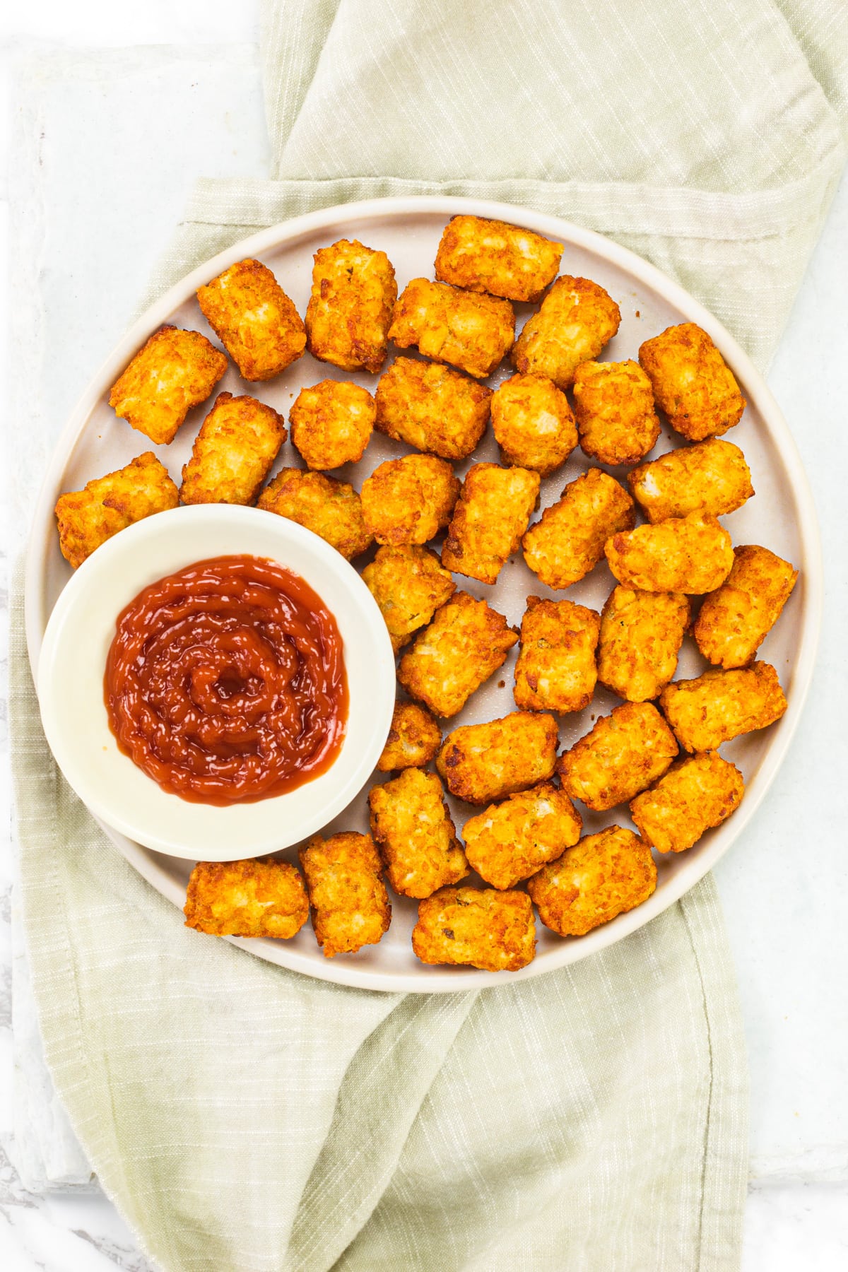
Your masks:
{"label": "roundish end-on tater tot with pale spot, right of plate's upper middle", "polygon": [[503,458],[547,477],[577,445],[568,398],[547,375],[512,375],[495,391],[492,431]]}

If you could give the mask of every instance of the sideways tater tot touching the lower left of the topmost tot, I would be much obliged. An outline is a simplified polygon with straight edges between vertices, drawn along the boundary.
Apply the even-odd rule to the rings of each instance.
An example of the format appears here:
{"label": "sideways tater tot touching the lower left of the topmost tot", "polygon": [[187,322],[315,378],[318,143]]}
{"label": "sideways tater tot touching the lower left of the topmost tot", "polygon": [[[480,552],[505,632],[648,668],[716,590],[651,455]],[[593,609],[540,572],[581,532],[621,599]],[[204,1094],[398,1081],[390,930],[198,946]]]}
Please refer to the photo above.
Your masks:
{"label": "sideways tater tot touching the lower left of the topmost tot", "polygon": [[406,285],[389,327],[389,340],[398,349],[417,345],[426,357],[459,366],[475,379],[492,374],[514,338],[515,314],[509,300],[428,279]]}

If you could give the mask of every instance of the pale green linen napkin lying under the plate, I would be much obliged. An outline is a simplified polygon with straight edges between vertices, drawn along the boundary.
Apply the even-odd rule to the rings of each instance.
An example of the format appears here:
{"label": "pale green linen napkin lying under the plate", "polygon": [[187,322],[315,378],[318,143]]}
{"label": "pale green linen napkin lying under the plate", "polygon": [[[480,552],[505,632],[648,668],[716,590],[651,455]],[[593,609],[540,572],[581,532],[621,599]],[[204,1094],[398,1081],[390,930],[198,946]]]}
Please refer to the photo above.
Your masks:
{"label": "pale green linen napkin lying under the plate", "polygon": [[[763,364],[843,163],[847,48],[838,0],[268,0],[275,179],[202,183],[154,293],[301,211],[477,195],[614,235]],[[19,611],[46,1056],[168,1272],[737,1266],[746,1070],[709,878],[613,949],[479,993],[346,990],[198,940],[57,773]]]}

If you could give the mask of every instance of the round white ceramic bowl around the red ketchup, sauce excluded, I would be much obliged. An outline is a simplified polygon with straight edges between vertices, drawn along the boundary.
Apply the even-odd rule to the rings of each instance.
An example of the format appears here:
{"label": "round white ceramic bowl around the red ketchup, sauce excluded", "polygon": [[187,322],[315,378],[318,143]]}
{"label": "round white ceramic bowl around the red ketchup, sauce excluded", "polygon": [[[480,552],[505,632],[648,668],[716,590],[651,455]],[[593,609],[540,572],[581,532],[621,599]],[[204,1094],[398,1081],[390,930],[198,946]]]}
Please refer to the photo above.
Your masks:
{"label": "round white ceramic bowl around the red ketchup, sauce excluded", "polygon": [[[270,557],[318,593],[342,636],[350,706],[342,748],[324,773],[285,795],[220,808],[168,794],[118,750],[103,673],[116,619],[142,588],[195,561],[235,553]],[[159,852],[230,861],[297,843],[350,804],[389,731],[394,655],[371,593],[317,534],[256,508],[196,505],[137,522],[83,562],[47,625],[38,700],[60,768],[98,817]]]}

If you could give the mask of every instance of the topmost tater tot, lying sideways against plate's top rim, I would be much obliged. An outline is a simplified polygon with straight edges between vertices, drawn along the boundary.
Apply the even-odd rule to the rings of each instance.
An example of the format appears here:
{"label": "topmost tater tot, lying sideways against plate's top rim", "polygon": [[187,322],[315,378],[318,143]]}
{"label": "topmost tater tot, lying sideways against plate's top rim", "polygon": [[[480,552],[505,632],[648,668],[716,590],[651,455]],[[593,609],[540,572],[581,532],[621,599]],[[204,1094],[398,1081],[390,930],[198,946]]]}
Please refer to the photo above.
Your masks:
{"label": "topmost tater tot, lying sideways against plate's top rim", "polygon": [[562,243],[483,216],[451,216],[436,252],[436,277],[468,291],[537,301],[559,268]]}

